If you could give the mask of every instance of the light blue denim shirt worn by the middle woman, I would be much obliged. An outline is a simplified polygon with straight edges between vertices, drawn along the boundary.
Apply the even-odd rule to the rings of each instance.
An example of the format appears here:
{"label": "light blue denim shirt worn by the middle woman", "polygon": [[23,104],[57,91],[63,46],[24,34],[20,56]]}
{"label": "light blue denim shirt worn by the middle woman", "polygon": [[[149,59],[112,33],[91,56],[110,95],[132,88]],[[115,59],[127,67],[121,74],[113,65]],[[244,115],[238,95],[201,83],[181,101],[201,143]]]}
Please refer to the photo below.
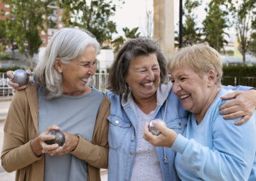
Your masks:
{"label": "light blue denim shirt worn by the middle woman", "polygon": [[[234,89],[236,87],[223,87]],[[237,87],[237,90],[248,90],[250,87]],[[109,159],[108,159],[108,180],[130,180],[132,164],[136,151],[136,129],[137,116],[131,92],[125,96],[117,96],[110,91],[106,92],[110,105],[109,113]],[[165,122],[169,128],[176,133],[183,134],[188,122],[186,112],[182,108],[177,96],[172,92],[172,83],[161,85],[157,89],[157,108],[155,118],[164,117],[165,101],[168,101]],[[156,147],[157,155],[163,171],[163,178],[167,180],[180,180],[174,167],[175,151],[171,148]]]}

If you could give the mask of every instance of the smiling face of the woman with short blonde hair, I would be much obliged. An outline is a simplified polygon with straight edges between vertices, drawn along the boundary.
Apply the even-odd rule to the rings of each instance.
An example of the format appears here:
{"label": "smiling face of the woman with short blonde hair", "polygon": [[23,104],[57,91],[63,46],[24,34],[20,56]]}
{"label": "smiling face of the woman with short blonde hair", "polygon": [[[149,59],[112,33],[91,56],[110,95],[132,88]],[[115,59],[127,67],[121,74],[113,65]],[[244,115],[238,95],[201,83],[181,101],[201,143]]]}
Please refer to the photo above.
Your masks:
{"label": "smiling face of the woman with short blonde hair", "polygon": [[171,81],[172,91],[180,99],[184,110],[198,114],[211,105],[212,89],[209,85],[214,85],[214,82],[209,82],[207,75],[200,77],[192,68],[180,66],[172,69]]}

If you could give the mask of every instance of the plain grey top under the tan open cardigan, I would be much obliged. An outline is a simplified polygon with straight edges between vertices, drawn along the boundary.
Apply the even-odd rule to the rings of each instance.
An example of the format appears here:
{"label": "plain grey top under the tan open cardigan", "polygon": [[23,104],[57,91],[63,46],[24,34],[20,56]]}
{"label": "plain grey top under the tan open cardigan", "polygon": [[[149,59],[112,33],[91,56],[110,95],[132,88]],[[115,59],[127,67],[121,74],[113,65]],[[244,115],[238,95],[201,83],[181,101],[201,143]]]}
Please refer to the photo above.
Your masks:
{"label": "plain grey top under the tan open cardigan", "polygon": [[[61,131],[79,134],[92,141],[92,134],[103,99],[102,92],[92,88],[92,92],[79,96],[62,95],[60,98],[46,100],[38,87],[38,132],[56,124]],[[66,154],[50,156],[45,154],[44,180],[87,180],[86,161]]]}

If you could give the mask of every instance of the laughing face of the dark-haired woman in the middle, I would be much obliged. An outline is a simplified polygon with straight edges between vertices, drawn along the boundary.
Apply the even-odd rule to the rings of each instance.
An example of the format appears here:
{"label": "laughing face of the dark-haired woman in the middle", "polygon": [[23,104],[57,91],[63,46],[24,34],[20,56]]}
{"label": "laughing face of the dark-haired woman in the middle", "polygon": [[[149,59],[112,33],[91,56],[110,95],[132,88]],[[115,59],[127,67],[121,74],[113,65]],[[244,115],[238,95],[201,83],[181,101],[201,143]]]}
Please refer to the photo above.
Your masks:
{"label": "laughing face of the dark-haired woman in the middle", "polygon": [[156,54],[138,56],[131,61],[126,83],[134,99],[147,99],[156,95],[160,83],[160,68]]}

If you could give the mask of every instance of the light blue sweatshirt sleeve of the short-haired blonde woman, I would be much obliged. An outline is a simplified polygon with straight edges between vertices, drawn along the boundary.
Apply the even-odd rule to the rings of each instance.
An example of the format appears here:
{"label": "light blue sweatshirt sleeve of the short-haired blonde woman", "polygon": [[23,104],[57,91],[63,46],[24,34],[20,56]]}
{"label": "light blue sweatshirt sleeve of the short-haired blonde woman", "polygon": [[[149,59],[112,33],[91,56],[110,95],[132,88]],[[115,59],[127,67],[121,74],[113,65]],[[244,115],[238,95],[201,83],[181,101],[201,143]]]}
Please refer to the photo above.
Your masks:
{"label": "light blue sweatshirt sleeve of the short-haired blonde woman", "polygon": [[218,116],[212,124],[212,148],[194,139],[178,135],[172,149],[180,153],[187,170],[180,170],[200,180],[248,180],[255,160],[256,127],[255,113],[241,126],[236,120],[223,120]]}

